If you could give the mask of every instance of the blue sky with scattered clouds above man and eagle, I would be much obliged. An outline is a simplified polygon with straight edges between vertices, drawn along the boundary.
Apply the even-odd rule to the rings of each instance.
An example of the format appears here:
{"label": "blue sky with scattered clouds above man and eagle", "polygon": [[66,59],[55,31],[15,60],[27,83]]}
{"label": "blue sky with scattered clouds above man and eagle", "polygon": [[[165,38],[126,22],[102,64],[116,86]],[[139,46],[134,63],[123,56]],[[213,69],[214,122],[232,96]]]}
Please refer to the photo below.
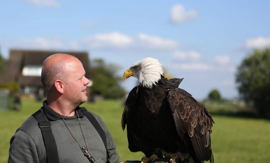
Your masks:
{"label": "blue sky with scattered clouds above man and eagle", "polygon": [[[184,78],[180,88],[203,100],[217,89],[238,96],[237,66],[254,48],[270,46],[270,1],[91,1],[0,2],[0,47],[87,51],[119,65],[118,75],[147,57],[167,74]],[[127,92],[132,77],[120,83]]]}

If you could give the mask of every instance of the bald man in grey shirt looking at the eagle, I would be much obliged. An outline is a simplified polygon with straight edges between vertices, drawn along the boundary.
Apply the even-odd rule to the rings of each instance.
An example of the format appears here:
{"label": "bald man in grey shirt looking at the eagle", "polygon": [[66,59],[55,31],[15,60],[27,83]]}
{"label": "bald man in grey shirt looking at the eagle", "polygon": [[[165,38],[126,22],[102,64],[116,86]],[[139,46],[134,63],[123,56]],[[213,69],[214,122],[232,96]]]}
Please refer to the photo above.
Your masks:
{"label": "bald man in grey shirt looking at the eagle", "polygon": [[[85,108],[79,107],[87,101],[86,85],[90,82],[79,59],[69,54],[49,56],[43,62],[41,81],[47,100],[43,102],[41,112],[37,112],[51,123],[59,162],[89,162],[91,156],[96,163],[106,163],[108,156],[104,142],[85,116]],[[106,136],[110,163],[119,163],[115,142],[105,123],[98,115],[90,113]],[[33,114],[11,138],[8,163],[47,163],[50,157],[47,152],[41,128]],[[52,155],[55,153],[53,151]]]}

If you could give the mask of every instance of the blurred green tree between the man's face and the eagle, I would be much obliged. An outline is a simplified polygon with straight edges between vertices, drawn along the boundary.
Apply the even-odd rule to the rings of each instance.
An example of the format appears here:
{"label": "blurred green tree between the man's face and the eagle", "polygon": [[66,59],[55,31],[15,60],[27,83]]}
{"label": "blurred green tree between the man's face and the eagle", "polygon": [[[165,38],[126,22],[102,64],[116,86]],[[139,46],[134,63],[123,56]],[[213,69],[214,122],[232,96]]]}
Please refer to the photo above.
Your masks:
{"label": "blurred green tree between the man's face and the eagle", "polygon": [[101,94],[107,99],[122,98],[125,91],[119,85],[122,77],[116,75],[118,69],[117,65],[106,64],[102,59],[94,59],[91,62],[92,94]]}

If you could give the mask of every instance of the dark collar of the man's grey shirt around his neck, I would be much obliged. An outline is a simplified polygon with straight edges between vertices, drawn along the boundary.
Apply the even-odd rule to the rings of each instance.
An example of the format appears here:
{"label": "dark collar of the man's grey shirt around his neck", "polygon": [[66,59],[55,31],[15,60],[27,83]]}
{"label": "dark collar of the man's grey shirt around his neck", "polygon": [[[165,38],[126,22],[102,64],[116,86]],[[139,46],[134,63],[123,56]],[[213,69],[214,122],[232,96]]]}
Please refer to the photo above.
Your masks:
{"label": "dark collar of the man's grey shirt around his neck", "polygon": [[[79,115],[80,118],[82,118],[82,117],[85,116],[85,115],[83,114],[83,112],[82,112],[82,110],[81,110],[81,108],[80,108],[79,106],[76,108],[76,110],[77,110],[78,114],[75,112],[75,115],[74,115],[74,116],[78,117],[78,115]],[[44,113],[49,119],[51,119],[51,120],[53,120],[53,121],[56,121],[56,120],[62,118],[60,114],[58,114],[58,113],[56,113],[55,111],[53,111],[53,110],[47,105],[47,100],[43,101],[43,113]]]}

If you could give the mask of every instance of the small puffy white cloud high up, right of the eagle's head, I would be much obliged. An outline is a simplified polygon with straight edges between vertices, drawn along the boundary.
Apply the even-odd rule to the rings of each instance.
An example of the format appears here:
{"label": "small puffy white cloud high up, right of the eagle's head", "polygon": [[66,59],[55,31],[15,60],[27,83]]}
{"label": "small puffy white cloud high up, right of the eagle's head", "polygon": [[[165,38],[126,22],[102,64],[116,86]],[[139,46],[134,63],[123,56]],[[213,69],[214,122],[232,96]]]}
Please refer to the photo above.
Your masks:
{"label": "small puffy white cloud high up, right of the eagle's head", "polygon": [[184,24],[187,21],[196,19],[198,16],[199,14],[194,10],[186,12],[181,4],[176,4],[171,9],[171,19],[174,24]]}

